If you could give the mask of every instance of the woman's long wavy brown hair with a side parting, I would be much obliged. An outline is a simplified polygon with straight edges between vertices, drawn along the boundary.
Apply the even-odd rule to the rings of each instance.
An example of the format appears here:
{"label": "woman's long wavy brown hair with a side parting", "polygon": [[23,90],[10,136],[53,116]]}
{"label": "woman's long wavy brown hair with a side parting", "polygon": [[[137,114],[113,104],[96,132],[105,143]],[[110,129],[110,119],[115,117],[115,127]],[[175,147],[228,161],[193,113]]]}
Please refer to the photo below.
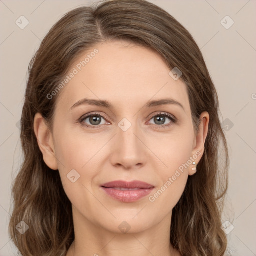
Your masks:
{"label": "woman's long wavy brown hair with a side parting", "polygon": [[[191,34],[169,13],[145,0],[103,1],[69,11],[50,29],[31,59],[21,116],[24,159],[12,184],[13,211],[8,229],[12,241],[26,256],[64,256],[74,240],[71,202],[59,172],[43,161],[33,120],[39,112],[51,127],[58,95],[50,100],[47,95],[64,79],[77,57],[111,40],[151,49],[170,70],[178,67],[182,71],[180,79],[186,84],[196,132],[202,111],[209,113],[197,173],[188,177],[172,210],[170,243],[182,256],[224,255],[227,239],[221,229],[221,214],[229,156],[217,92]],[[22,220],[29,229],[21,235],[15,227]]]}

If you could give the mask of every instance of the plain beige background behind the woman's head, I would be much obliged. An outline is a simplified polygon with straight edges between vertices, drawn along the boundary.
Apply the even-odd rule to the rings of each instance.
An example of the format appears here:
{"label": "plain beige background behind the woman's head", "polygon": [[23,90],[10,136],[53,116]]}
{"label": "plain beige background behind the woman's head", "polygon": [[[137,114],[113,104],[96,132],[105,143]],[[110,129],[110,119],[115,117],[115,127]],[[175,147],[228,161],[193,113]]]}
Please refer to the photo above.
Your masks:
{"label": "plain beige background behind the woman's head", "polygon": [[[42,38],[64,13],[92,2],[95,1],[0,0],[0,256],[14,255],[16,251],[9,240],[7,225],[10,185],[21,162],[19,120],[28,63]],[[230,255],[256,255],[256,1],[150,2],[181,22],[203,53],[218,91],[221,120],[225,120],[227,129],[230,174],[222,223],[229,221],[234,227],[227,234]],[[29,21],[24,29],[15,24],[21,15]],[[226,15],[234,21],[229,29],[222,25],[232,22],[223,19]],[[230,226],[226,230],[230,231]]]}

